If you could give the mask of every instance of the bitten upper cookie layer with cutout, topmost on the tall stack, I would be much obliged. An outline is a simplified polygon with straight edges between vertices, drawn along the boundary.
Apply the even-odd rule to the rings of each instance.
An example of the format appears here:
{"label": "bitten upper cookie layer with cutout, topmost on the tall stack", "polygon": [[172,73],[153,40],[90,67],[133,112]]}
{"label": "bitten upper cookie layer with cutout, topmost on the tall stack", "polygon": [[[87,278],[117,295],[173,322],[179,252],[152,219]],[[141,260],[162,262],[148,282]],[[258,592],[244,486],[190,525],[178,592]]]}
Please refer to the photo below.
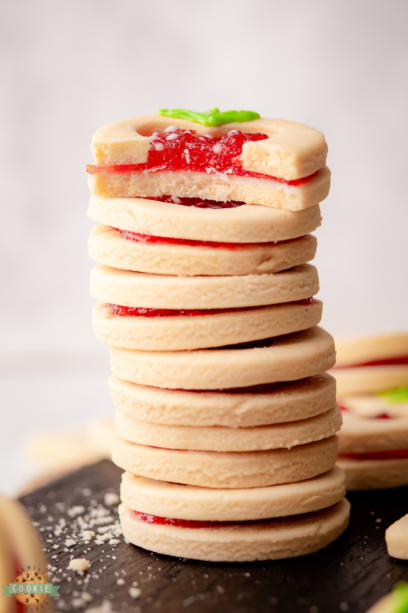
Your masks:
{"label": "bitten upper cookie layer with cutout, topmost on the tall stack", "polygon": [[[324,134],[295,121],[259,117],[219,126],[204,126],[195,121],[163,115],[142,115],[102,126],[92,137],[91,150],[95,164],[141,164],[147,161],[154,133],[193,131],[221,139],[231,131],[262,132],[262,142],[242,146],[245,170],[264,173],[286,180],[308,177],[325,166],[327,145]],[[190,163],[190,162],[188,162]]]}

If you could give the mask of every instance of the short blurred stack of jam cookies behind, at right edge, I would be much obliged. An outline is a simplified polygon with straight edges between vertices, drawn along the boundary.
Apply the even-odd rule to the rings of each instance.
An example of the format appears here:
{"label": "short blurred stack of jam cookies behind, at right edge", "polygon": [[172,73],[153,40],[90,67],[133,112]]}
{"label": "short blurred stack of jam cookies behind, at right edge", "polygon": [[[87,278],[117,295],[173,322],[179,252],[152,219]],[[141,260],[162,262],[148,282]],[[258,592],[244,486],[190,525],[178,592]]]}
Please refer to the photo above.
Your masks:
{"label": "short blurred stack of jam cookies behind, at right edge", "polygon": [[347,338],[336,348],[347,489],[408,485],[408,333]]}

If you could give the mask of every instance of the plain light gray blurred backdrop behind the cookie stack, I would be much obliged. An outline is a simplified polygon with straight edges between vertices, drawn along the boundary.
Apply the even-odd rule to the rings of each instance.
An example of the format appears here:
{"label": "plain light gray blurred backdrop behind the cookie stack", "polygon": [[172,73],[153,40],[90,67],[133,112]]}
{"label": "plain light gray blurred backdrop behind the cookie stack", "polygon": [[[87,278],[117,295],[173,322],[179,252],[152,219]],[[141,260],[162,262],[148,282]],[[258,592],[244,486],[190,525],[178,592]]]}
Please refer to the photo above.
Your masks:
{"label": "plain light gray blurred backdrop behind the cookie stack", "polygon": [[217,105],[321,129],[322,324],[406,327],[407,13],[404,0],[1,3],[0,489],[34,471],[23,436],[113,412],[86,253],[102,124]]}

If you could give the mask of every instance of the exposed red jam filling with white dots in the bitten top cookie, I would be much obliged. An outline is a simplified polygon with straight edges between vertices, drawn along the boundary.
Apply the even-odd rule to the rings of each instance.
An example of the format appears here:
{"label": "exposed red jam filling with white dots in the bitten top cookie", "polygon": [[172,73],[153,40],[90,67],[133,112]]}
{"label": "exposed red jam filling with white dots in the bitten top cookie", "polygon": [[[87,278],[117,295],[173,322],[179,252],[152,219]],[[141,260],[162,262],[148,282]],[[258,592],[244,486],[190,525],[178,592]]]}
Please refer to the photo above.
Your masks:
{"label": "exposed red jam filling with white dots in the bitten top cookie", "polygon": [[255,132],[247,134],[239,130],[232,130],[224,134],[221,139],[209,135],[203,136],[194,130],[177,130],[175,132],[162,132],[153,134],[154,139],[150,145],[147,162],[144,164],[119,164],[115,166],[95,166],[89,164],[87,172],[121,173],[121,172],[155,172],[164,170],[174,172],[177,170],[194,172],[221,172],[225,175],[237,177],[255,177],[286,183],[286,185],[299,185],[305,183],[310,177],[303,177],[286,181],[278,177],[271,177],[259,172],[244,170],[240,156],[242,145],[248,141],[264,140],[268,136]]}

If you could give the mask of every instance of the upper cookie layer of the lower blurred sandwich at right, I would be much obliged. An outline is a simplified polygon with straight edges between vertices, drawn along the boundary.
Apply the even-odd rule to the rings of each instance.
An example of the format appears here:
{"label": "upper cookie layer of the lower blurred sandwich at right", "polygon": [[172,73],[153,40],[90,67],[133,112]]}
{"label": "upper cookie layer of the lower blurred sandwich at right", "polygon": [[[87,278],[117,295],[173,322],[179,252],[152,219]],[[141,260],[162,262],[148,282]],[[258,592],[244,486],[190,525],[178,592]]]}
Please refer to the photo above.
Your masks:
{"label": "upper cookie layer of the lower blurred sandwich at right", "polygon": [[339,454],[408,449],[408,417],[360,417],[343,411]]}

